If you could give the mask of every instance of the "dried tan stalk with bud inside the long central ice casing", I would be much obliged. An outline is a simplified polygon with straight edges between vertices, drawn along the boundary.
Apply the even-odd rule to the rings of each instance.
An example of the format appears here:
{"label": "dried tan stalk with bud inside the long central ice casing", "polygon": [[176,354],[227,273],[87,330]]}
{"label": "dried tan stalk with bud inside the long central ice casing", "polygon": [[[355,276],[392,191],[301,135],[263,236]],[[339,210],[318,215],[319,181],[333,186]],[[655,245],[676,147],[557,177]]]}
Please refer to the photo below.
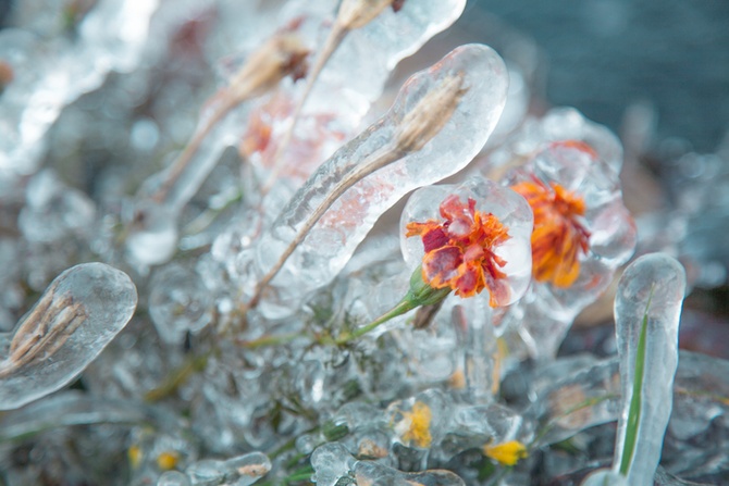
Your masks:
{"label": "dried tan stalk with bud inside the long central ice casing", "polygon": [[254,297],[247,304],[247,309],[251,309],[258,304],[265,286],[281,271],[288,257],[294,253],[296,248],[307,237],[309,230],[347,189],[373,172],[400,160],[408,153],[422,149],[445,126],[456,111],[461,97],[466,94],[466,88],[462,87],[462,84],[464,73],[461,72],[443,79],[411,111],[406,113],[396,129],[394,141],[375,151],[370,155],[369,160],[353,169],[351,172],[346,174],[334,186],[321,204],[306,220],[294,240],[288,245],[273,267],[258,283]]}

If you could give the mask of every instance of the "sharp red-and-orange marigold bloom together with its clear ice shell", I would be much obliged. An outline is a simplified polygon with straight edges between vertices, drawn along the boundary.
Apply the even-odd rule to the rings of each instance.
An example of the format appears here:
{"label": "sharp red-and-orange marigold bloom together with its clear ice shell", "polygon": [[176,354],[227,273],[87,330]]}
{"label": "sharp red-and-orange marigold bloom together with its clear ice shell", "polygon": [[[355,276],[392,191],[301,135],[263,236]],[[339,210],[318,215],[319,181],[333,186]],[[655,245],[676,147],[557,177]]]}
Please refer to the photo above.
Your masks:
{"label": "sharp red-and-orange marigold bloom together with its clear ice shell", "polygon": [[[440,217],[428,217],[434,208]],[[405,244],[406,260],[422,254],[422,279],[429,286],[464,298],[487,289],[491,307],[507,306],[523,292],[532,219],[512,191],[478,178],[458,187],[424,188],[408,202],[403,223],[407,238],[422,241],[422,251]]]}

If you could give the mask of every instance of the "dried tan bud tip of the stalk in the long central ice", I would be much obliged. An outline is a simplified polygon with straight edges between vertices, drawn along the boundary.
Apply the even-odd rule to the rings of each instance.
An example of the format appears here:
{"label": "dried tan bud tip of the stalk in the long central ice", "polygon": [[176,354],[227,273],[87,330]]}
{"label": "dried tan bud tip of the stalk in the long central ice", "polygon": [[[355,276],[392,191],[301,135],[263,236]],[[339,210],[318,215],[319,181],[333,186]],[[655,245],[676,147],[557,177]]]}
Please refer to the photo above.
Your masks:
{"label": "dried tan bud tip of the stalk in the long central ice", "polygon": [[468,91],[462,87],[464,74],[457,73],[443,79],[428,92],[399,124],[397,148],[412,152],[423,148],[450,120],[461,97]]}

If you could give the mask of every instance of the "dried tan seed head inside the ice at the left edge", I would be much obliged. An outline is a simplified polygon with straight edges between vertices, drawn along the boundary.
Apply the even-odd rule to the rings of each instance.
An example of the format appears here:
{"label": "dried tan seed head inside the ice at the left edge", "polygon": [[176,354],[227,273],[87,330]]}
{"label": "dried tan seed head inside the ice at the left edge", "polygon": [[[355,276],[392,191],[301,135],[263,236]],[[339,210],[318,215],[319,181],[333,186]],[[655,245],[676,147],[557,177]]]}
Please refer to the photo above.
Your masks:
{"label": "dried tan seed head inside the ice at the left edge", "polygon": [[52,290],[47,291],[15,332],[0,378],[53,356],[88,317],[84,304],[74,302],[71,296],[55,302],[53,297]]}

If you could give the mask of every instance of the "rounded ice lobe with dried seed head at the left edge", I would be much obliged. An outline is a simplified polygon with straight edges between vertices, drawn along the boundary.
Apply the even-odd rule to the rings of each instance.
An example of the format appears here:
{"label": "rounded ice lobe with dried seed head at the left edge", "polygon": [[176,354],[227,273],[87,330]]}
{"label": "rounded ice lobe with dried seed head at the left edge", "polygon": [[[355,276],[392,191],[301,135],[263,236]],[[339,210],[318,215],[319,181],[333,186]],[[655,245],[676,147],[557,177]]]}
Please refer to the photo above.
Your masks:
{"label": "rounded ice lobe with dried seed head at the left edge", "polygon": [[0,361],[0,409],[21,407],[75,378],[122,331],[137,304],[129,277],[103,263],[59,275],[15,328]]}

